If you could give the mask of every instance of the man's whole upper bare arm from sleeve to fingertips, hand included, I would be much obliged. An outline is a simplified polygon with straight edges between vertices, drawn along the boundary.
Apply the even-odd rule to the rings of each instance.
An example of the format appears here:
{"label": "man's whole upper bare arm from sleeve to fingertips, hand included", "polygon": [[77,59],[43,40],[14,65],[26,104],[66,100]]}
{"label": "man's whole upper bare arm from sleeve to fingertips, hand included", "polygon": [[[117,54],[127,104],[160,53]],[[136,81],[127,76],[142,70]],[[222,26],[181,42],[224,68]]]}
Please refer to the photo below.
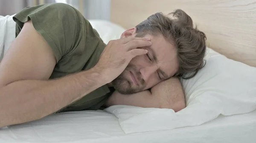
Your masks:
{"label": "man's whole upper bare arm from sleeve to fingertips, hand included", "polygon": [[113,40],[95,67],[49,80],[54,53],[32,22],[26,22],[0,63],[0,127],[43,118],[111,82],[132,58],[147,53],[137,48],[150,46],[149,40]]}

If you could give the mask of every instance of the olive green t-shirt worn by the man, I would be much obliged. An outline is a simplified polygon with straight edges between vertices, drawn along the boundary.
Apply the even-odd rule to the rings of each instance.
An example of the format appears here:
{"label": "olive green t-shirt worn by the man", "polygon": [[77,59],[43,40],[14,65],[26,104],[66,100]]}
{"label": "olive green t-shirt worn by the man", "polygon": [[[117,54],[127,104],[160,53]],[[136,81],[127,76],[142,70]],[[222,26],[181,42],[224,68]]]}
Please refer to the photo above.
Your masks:
{"label": "olive green t-shirt worn by the man", "polygon": [[[90,22],[76,8],[64,3],[27,7],[13,20],[17,23],[16,36],[24,22],[31,20],[35,30],[52,48],[57,64],[50,79],[92,68],[106,46]],[[110,94],[104,85],[59,112],[99,109]]]}

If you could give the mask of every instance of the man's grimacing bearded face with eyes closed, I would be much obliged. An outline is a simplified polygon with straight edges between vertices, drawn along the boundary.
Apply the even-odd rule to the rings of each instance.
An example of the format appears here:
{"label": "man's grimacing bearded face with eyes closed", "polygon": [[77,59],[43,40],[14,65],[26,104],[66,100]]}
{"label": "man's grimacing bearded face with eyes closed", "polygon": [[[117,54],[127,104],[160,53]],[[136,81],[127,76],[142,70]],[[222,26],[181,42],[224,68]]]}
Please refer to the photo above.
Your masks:
{"label": "man's grimacing bearded face with eyes closed", "polygon": [[145,37],[150,37],[152,42],[150,47],[144,47],[148,53],[134,57],[121,75],[112,81],[119,93],[132,94],[147,90],[177,72],[175,46],[162,35]]}

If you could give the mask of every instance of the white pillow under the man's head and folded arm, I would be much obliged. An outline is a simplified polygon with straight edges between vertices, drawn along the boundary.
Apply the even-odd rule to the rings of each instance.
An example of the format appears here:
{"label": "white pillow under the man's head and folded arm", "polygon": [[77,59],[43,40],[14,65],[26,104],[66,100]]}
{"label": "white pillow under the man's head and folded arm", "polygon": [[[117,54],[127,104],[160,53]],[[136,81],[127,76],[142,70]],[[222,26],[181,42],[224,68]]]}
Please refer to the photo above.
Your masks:
{"label": "white pillow under the man's head and folded arm", "polygon": [[116,115],[128,134],[198,126],[220,114],[243,114],[256,109],[256,68],[220,54],[210,56],[195,77],[182,79],[181,83],[187,107],[180,112],[123,105],[105,111]]}

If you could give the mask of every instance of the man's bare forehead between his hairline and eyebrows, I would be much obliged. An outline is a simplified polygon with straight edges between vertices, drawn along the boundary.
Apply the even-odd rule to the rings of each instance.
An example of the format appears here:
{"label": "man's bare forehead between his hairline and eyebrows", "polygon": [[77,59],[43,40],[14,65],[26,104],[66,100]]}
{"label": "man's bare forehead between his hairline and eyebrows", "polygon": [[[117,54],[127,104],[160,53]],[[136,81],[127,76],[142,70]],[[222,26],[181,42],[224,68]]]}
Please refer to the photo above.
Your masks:
{"label": "man's bare forehead between his hairline and eyebrows", "polygon": [[[163,70],[169,77],[173,76],[178,70],[177,52],[175,45],[172,42],[166,41],[162,35],[152,36],[151,51],[154,51],[157,58],[157,66]],[[149,50],[150,51],[150,50]]]}

